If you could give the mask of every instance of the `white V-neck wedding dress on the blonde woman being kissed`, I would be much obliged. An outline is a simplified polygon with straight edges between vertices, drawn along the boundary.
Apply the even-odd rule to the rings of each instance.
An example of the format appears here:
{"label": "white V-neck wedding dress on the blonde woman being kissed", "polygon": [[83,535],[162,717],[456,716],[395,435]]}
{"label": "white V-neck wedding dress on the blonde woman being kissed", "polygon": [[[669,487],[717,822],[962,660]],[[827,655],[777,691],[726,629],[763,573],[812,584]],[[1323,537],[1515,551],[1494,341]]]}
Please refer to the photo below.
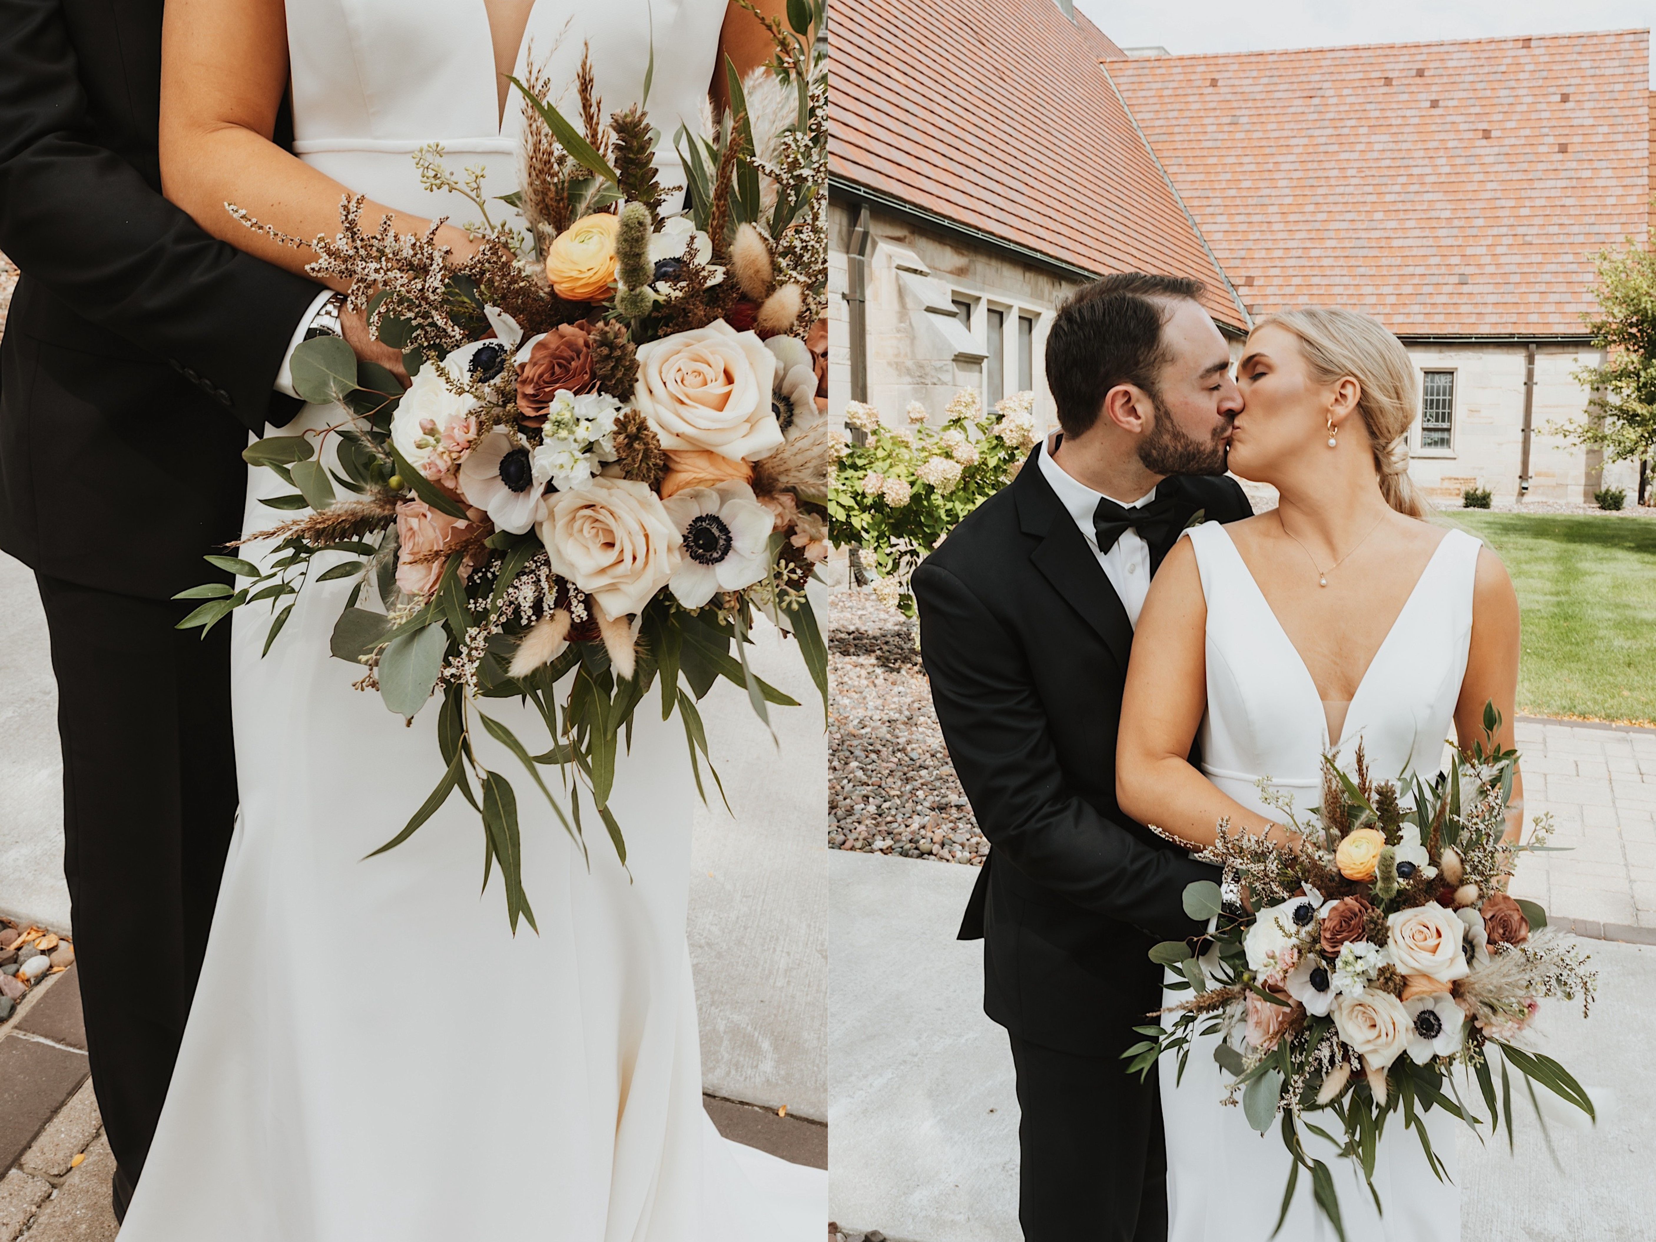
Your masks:
{"label": "white V-neck wedding dress on the blonde woman being kissed", "polygon": [[[1295,810],[1321,802],[1321,753],[1336,750],[1351,770],[1358,742],[1379,778],[1403,772],[1439,772],[1444,740],[1466,676],[1472,634],[1472,585],[1479,542],[1449,532],[1398,614],[1345,717],[1338,747],[1330,747],[1328,724],[1317,684],[1288,641],[1230,533],[1217,522],[1186,532],[1207,599],[1207,714],[1201,727],[1202,772],[1244,806],[1280,818],[1260,800],[1255,782],[1292,793]],[[1164,994],[1164,1004],[1187,992]],[[1171,1022],[1164,1018],[1164,1022]],[[1214,1061],[1217,1037],[1199,1038],[1184,1081],[1176,1061],[1159,1066],[1163,1119],[1167,1133],[1169,1242],[1265,1242],[1282,1211],[1290,1158],[1275,1126],[1259,1134],[1240,1106],[1222,1106],[1220,1070]],[[1419,1116],[1419,1114],[1416,1114]],[[1331,1113],[1313,1118],[1338,1133]],[[1442,1110],[1426,1114],[1432,1151],[1456,1176],[1456,1133],[1461,1123]],[[1419,1138],[1403,1128],[1403,1114],[1386,1123],[1374,1163],[1374,1189],[1336,1148],[1305,1134],[1305,1151],[1321,1159],[1335,1177],[1348,1242],[1452,1242],[1461,1237],[1461,1192],[1441,1182],[1426,1164]],[[1333,1227],[1312,1201],[1312,1179],[1302,1171],[1282,1242],[1333,1242]]]}

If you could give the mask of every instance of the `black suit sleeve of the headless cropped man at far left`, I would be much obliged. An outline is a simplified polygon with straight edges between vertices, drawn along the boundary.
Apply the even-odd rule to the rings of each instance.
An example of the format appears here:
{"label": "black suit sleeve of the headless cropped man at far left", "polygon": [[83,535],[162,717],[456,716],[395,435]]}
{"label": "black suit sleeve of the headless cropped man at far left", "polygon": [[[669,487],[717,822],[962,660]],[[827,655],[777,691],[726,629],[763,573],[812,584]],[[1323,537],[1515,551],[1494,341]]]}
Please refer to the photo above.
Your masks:
{"label": "black suit sleeve of the headless cropped man at far left", "polygon": [[252,431],[318,285],[202,232],[91,139],[58,0],[0,0],[0,250],[83,320],[190,378]]}

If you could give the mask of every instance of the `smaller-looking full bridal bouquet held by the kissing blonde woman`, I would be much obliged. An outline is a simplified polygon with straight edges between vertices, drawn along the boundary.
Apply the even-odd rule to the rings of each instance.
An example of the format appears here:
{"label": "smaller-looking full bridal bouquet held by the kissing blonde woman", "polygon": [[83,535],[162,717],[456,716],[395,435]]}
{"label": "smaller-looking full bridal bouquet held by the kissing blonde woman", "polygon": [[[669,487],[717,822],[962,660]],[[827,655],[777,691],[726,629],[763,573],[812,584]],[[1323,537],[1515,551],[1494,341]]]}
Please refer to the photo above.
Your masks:
{"label": "smaller-looking full bridal bouquet held by the kissing blonde woman", "polygon": [[[1499,720],[1487,705],[1490,739]],[[1184,942],[1151,951],[1184,975],[1171,987],[1194,995],[1166,1010],[1166,1028],[1138,1028],[1146,1040],[1128,1050],[1129,1071],[1176,1053],[1182,1076],[1194,1037],[1217,1033],[1225,1103],[1240,1096],[1260,1133],[1280,1123],[1293,1156],[1282,1219],[1303,1167],[1345,1237],[1333,1179],[1307,1158],[1302,1126],[1358,1163],[1379,1207],[1374,1151],[1388,1118],[1403,1113],[1442,1177],[1419,1113],[1442,1108],[1484,1124],[1462,1083],[1477,1081],[1492,1133],[1505,1114],[1509,1143],[1514,1076],[1537,1114],[1540,1085],[1593,1116],[1568,1070],[1525,1042],[1542,999],[1578,999],[1585,1017],[1596,977],[1573,937],[1547,929],[1540,906],[1504,891],[1517,854],[1547,848],[1552,833],[1542,816],[1528,845],[1504,840],[1517,762],[1515,750],[1479,742],[1432,783],[1409,777],[1399,788],[1371,780],[1361,750],[1355,780],[1325,758],[1321,806],[1303,820],[1262,782],[1300,845],[1220,823],[1209,854],[1257,912],[1232,919],[1217,884],[1191,884],[1186,912],[1219,916],[1212,956],[1199,960]]]}

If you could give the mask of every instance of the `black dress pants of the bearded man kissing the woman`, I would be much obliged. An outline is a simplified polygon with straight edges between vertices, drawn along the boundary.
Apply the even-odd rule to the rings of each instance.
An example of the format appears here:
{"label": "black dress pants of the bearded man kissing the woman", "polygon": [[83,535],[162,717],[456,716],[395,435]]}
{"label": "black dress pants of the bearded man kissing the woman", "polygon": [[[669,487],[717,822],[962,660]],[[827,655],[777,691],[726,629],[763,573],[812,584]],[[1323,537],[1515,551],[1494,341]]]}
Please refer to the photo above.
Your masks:
{"label": "black dress pants of the bearded man kissing the woman", "polygon": [[[1131,1038],[1138,1038],[1133,1035]],[[1154,1071],[1012,1037],[1025,1242],[1166,1242],[1167,1146]]]}

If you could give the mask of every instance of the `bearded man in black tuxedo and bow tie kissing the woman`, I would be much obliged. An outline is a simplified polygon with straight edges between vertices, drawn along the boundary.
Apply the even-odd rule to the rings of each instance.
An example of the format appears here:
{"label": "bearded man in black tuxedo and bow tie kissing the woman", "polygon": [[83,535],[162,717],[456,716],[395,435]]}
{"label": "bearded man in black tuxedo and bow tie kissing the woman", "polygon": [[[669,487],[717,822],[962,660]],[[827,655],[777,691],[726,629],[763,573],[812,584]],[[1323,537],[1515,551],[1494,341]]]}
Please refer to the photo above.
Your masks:
{"label": "bearded man in black tuxedo and bow tie kissing the woman", "polygon": [[1201,291],[1143,273],[1076,291],[1047,338],[1063,434],[912,580],[949,755],[994,845],[960,939],[984,939],[984,1010],[1012,1037],[1027,1242],[1167,1235],[1156,1076],[1121,1053],[1161,1004],[1146,951],[1202,932],[1181,898],[1219,873],[1121,815],[1116,730],[1151,573],[1184,527],[1252,512],[1217,477],[1242,399]]}

